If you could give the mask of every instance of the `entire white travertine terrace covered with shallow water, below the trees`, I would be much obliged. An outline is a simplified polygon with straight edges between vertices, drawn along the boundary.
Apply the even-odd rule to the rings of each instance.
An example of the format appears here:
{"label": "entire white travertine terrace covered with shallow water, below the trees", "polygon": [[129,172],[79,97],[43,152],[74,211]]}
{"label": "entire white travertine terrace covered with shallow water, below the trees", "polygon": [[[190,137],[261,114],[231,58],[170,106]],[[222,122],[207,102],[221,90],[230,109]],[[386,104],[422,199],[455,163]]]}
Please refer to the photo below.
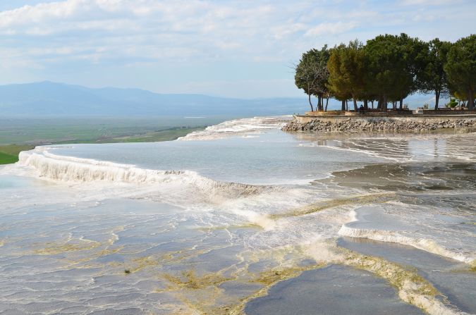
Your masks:
{"label": "entire white travertine terrace covered with shallow water, below the trees", "polygon": [[37,147],[0,168],[0,314],[475,314],[476,134]]}

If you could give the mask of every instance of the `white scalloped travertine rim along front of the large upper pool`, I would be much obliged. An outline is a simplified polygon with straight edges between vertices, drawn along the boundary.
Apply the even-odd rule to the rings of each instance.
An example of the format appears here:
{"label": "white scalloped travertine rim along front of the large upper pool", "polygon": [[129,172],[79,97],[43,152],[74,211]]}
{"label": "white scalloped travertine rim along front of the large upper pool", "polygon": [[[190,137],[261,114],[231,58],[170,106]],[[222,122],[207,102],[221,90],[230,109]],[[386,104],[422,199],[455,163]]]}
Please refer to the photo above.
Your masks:
{"label": "white scalloped travertine rim along front of the large upper pool", "polygon": [[49,180],[67,182],[173,183],[206,194],[209,199],[233,199],[279,189],[273,186],[226,183],[206,178],[194,171],[160,171],[94,159],[51,154],[47,147],[20,152],[18,166],[30,166],[35,174]]}

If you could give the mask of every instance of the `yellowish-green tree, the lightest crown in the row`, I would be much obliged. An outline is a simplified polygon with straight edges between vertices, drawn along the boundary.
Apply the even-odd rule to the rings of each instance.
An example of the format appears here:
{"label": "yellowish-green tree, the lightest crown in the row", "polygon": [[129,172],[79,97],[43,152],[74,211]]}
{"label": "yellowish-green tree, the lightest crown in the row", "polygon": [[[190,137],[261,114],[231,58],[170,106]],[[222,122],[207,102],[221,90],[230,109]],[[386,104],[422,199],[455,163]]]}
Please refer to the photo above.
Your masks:
{"label": "yellowish-green tree, the lightest crown in the row", "polygon": [[350,95],[355,111],[358,97],[364,94],[364,58],[362,43],[355,39],[348,46],[334,47],[327,63],[329,90],[336,95]]}

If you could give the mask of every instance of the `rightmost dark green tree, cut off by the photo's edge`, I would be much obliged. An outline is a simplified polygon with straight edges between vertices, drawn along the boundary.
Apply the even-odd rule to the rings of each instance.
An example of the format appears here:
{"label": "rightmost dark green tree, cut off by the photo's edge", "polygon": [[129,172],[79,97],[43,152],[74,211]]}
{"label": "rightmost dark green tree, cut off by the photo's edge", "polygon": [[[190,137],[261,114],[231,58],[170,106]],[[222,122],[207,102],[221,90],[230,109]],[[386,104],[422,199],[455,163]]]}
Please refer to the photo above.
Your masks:
{"label": "rightmost dark green tree, cut off by the photo's edge", "polygon": [[474,109],[476,94],[476,35],[459,39],[451,46],[444,65],[450,88],[463,93],[468,109]]}

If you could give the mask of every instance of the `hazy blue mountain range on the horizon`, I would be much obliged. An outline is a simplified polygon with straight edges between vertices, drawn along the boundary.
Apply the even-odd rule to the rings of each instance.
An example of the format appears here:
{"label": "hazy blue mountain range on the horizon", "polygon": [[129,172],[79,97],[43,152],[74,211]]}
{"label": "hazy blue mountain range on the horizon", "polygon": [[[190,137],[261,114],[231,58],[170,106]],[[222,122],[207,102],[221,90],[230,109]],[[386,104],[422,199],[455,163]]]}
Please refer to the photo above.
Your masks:
{"label": "hazy blue mountain range on the horizon", "polygon": [[307,110],[304,94],[302,98],[231,99],[143,89],[93,89],[49,81],[0,86],[0,116],[260,116]]}

